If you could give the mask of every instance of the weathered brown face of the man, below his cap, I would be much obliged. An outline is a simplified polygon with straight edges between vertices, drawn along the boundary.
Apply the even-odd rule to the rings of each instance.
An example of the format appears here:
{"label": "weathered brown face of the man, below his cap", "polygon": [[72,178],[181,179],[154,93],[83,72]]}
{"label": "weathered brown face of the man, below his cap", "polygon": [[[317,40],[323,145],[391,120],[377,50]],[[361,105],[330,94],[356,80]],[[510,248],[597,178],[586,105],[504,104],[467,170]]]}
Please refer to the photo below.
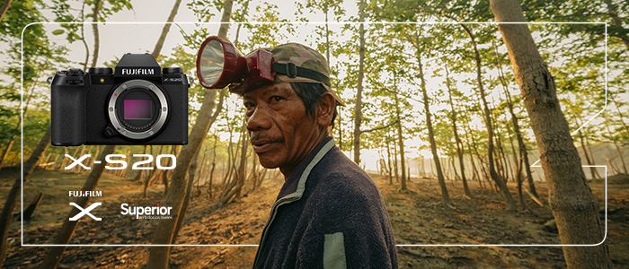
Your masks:
{"label": "weathered brown face of the man, below his cap", "polygon": [[292,171],[316,145],[320,128],[290,83],[247,92],[243,103],[253,150],[263,167]]}

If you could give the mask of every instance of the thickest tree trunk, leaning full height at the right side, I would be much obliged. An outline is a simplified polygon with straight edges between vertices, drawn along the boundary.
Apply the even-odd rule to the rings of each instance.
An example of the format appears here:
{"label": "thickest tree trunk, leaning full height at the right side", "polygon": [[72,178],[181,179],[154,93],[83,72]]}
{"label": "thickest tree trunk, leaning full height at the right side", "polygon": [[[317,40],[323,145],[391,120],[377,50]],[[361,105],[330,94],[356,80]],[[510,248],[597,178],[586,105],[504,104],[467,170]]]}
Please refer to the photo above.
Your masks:
{"label": "thickest tree trunk, leaning full height at the right side", "polygon": [[[490,8],[498,22],[526,22],[517,0],[490,0]],[[559,107],[553,77],[526,24],[499,24],[498,28],[536,135],[559,238],[562,244],[598,244],[563,247],[566,264],[568,268],[612,268],[598,219],[598,201],[581,169],[579,152]]]}

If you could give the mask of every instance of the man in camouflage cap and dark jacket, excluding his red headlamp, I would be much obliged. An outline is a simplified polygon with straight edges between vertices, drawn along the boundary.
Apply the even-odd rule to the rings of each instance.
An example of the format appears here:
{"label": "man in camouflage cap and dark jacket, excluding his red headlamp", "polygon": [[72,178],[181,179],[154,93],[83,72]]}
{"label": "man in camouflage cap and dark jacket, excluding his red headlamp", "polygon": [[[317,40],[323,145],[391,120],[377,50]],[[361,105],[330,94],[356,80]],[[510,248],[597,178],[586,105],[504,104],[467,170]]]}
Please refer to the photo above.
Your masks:
{"label": "man in camouflage cap and dark jacket, excluding his red headlamp", "polygon": [[253,268],[397,268],[382,195],[328,133],[344,103],[330,88],[327,61],[296,43],[270,52],[277,63],[297,67],[239,92],[261,165],[279,168],[286,180]]}

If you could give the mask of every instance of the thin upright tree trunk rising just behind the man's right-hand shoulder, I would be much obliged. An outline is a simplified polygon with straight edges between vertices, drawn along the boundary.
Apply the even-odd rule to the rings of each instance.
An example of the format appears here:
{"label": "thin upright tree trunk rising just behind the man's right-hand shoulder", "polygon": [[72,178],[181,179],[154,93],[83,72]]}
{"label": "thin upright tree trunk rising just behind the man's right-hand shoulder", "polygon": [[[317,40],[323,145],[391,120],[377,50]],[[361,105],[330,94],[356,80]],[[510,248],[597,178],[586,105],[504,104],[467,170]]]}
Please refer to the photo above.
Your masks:
{"label": "thin upright tree trunk rising just behind the man's right-hand shoulder", "polygon": [[[365,1],[360,0],[359,22],[365,22]],[[354,162],[360,165],[360,126],[362,125],[362,81],[365,74],[365,26],[359,25],[359,78],[356,86],[356,107],[354,108]]]}

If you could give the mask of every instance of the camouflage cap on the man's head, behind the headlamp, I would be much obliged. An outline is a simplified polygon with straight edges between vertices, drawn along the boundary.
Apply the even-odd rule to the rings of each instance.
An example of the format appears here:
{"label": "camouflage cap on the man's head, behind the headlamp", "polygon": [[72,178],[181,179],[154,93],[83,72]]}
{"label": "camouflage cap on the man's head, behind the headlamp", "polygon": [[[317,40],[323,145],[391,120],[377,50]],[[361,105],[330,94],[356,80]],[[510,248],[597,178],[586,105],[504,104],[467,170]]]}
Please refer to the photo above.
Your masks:
{"label": "camouflage cap on the man's head, behind the headlamp", "polygon": [[[336,100],[337,106],[345,107],[345,102],[336,95],[336,92],[332,91],[332,88],[329,85],[330,81],[330,69],[328,68],[328,61],[325,60],[325,57],[321,55],[319,52],[314,50],[313,48],[308,48],[304,45],[298,43],[287,43],[279,45],[275,48],[268,49],[275,57],[275,61],[279,64],[289,64],[292,63],[297,67],[306,68],[316,73],[323,74],[324,79],[327,81],[322,82],[322,80],[315,80],[308,77],[299,76],[288,76],[287,74],[276,74],[275,82],[312,82],[312,83],[320,83],[323,87],[328,90],[334,96],[334,100]],[[318,75],[318,74],[317,74]]]}

